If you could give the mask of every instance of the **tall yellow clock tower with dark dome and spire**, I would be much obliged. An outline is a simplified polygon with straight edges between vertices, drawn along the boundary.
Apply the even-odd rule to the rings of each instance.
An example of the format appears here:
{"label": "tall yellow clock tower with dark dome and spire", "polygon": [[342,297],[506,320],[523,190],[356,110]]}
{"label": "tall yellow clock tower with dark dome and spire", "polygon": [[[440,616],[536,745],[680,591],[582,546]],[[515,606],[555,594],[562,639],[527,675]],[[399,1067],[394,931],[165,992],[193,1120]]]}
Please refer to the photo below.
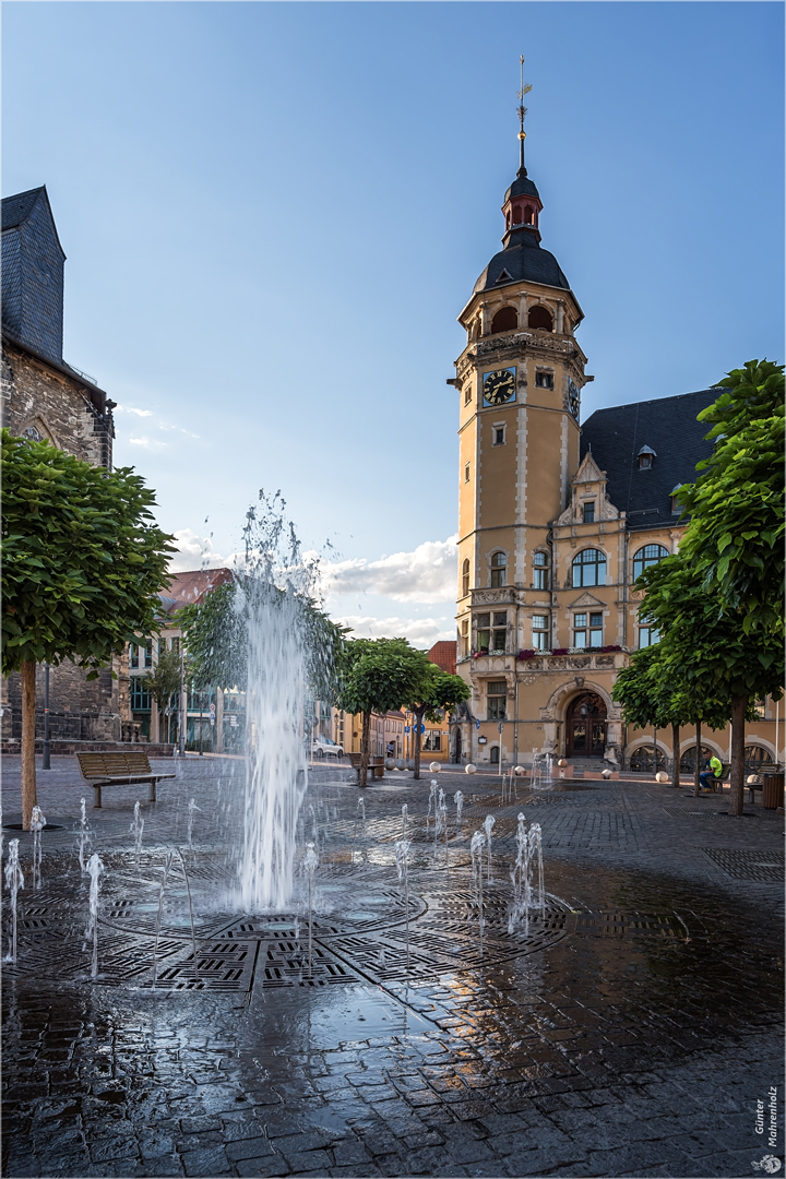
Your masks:
{"label": "tall yellow clock tower with dark dome and spire", "polygon": [[[541,245],[543,203],[524,166],[524,113],[520,107],[519,171],[502,203],[502,250],[458,316],[467,347],[450,382],[460,402],[458,671],[473,684],[471,707],[482,702],[489,717],[494,693],[501,717],[510,716],[504,696],[515,691],[515,663],[497,668],[484,658],[478,666],[475,657],[555,645],[553,525],[570,500],[581,389],[593,380],[575,338],[583,312]],[[541,631],[530,635],[534,627]]]}

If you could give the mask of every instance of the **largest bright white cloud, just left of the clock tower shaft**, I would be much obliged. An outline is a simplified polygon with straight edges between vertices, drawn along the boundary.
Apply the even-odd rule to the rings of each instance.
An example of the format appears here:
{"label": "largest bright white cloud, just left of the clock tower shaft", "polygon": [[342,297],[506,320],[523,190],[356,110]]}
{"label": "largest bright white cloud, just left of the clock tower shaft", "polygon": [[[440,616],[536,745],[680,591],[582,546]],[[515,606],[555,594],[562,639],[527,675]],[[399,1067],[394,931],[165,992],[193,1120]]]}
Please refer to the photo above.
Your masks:
{"label": "largest bright white cloud, just left of the clock tower shaft", "polygon": [[410,553],[323,564],[328,594],[374,593],[394,601],[450,601],[456,594],[456,536],[427,540]]}

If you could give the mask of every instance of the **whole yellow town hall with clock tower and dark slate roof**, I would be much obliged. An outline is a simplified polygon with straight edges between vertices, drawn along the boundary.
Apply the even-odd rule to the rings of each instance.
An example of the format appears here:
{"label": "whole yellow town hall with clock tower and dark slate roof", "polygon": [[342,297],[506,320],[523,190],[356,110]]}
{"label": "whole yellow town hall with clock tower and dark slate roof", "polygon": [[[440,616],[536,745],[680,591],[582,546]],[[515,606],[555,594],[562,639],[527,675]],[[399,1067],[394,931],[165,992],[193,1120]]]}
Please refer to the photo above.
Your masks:
{"label": "whole yellow town hall with clock tower and dark slate roof", "polygon": [[[634,590],[676,552],[674,492],[711,450],[696,415],[718,389],[602,409],[581,423],[594,380],[576,341],[583,318],[554,255],[523,158],[504,195],[504,235],[458,316],[457,671],[471,700],[454,760],[527,764],[535,753],[643,768],[671,757],[671,732],[626,731],[612,700],[629,652],[656,640]],[[760,703],[751,763],[777,760],[779,706]],[[707,732],[728,757],[729,733]],[[781,742],[782,744],[782,742]],[[695,732],[681,733],[682,766]]]}

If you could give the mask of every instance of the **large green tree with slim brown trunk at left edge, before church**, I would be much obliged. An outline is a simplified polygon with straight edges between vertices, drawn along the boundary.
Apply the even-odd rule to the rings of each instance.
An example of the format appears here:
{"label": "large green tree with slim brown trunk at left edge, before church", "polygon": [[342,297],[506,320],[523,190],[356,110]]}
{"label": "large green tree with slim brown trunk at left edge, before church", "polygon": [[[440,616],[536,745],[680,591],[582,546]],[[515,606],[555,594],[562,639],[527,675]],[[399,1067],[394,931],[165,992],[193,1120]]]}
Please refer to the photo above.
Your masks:
{"label": "large green tree with slim brown trunk at left edge, before church", "polygon": [[88,679],[152,634],[171,536],[132,468],[108,472],[2,430],[2,671],[21,673],[22,825],[35,805],[35,664]]}

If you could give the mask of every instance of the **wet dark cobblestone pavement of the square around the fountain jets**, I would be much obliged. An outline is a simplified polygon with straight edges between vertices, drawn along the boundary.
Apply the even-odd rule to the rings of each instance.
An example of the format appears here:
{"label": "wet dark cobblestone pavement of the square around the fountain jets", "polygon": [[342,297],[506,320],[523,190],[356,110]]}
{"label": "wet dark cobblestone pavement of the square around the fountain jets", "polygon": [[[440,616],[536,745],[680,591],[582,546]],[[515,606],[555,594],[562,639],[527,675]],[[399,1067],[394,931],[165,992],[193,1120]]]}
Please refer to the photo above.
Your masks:
{"label": "wet dark cobblestone pavement of the square around the fountain jets", "polygon": [[[733,819],[716,796],[629,780],[520,784],[502,806],[496,779],[443,771],[449,838],[435,848],[428,772],[358,791],[348,769],[317,771],[300,821],[300,845],[315,839],[321,858],[309,970],[302,907],[249,915],[226,901],[240,762],[174,763],[177,780],[143,802],[138,858],[130,825],[144,788],[106,790],[95,811],[73,759],[52,764],[39,775],[41,887],[22,834],[19,959],[4,968],[5,1175],[737,1177],[766,1173],[753,1164],[767,1153],[782,1159],[774,812],[746,804]],[[74,835],[82,795],[107,869],[95,982]],[[7,822],[18,798],[9,758]],[[409,910],[394,852],[402,803]],[[543,830],[548,902],[509,935],[520,812]],[[469,836],[488,814],[481,956]],[[183,864],[153,966],[172,847]],[[777,1147],[755,1132],[771,1087]]]}

